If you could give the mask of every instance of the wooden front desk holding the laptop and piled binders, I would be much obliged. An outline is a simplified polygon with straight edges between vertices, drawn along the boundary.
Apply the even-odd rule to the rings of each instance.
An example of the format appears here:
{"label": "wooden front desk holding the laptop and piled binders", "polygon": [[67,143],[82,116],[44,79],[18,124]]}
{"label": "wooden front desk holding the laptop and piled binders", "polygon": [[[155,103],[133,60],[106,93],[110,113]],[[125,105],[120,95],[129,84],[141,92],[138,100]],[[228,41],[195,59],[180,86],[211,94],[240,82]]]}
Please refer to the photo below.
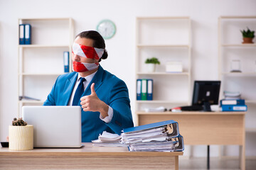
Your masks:
{"label": "wooden front desk holding the laptop and piled binders", "polygon": [[79,149],[33,149],[9,151],[0,148],[0,169],[178,169],[183,152],[129,152],[127,147]]}

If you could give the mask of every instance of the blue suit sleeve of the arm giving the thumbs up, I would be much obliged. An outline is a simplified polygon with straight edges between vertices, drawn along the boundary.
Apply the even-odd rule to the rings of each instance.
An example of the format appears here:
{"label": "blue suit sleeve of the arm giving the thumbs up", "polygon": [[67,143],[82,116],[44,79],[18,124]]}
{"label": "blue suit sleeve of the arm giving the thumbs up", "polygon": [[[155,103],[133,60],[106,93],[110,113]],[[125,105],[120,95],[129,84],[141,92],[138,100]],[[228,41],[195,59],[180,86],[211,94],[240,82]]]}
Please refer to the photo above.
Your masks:
{"label": "blue suit sleeve of the arm giving the thumbs up", "polygon": [[110,91],[110,107],[113,117],[106,123],[115,133],[120,134],[124,128],[133,127],[128,89],[124,81],[118,81]]}

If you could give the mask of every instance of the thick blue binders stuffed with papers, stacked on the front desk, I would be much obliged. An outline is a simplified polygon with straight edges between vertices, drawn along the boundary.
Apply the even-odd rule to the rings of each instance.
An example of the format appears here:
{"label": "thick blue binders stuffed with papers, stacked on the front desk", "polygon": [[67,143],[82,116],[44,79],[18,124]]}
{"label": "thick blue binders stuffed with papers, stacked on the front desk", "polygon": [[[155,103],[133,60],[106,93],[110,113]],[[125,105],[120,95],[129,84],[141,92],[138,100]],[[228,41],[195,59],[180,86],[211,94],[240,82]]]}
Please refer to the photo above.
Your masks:
{"label": "thick blue binders stuffed with papers, stacked on the front desk", "polygon": [[183,137],[174,120],[127,128],[121,136],[122,143],[133,152],[174,152],[184,149]]}

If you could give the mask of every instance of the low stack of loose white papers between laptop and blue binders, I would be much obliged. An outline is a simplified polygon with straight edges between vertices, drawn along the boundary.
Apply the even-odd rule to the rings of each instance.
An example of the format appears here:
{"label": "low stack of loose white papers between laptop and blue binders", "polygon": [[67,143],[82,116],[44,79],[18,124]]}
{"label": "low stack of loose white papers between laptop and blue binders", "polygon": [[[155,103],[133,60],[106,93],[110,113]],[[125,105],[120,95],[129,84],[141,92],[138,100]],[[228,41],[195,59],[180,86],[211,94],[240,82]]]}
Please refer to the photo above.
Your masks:
{"label": "low stack of loose white papers between laptop and blue binders", "polygon": [[112,134],[110,132],[102,132],[97,140],[92,140],[95,147],[127,147],[126,144],[121,143],[121,135]]}

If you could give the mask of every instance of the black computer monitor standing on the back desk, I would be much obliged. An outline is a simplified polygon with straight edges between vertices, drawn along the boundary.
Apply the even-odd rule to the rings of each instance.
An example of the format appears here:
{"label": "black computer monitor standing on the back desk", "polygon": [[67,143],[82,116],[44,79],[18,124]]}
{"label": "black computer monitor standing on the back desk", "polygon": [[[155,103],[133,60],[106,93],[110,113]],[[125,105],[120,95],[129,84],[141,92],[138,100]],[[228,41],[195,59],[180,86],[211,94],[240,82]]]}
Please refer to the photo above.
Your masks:
{"label": "black computer monitor standing on the back desk", "polygon": [[203,106],[211,111],[210,105],[218,105],[220,81],[194,81],[192,106]]}

